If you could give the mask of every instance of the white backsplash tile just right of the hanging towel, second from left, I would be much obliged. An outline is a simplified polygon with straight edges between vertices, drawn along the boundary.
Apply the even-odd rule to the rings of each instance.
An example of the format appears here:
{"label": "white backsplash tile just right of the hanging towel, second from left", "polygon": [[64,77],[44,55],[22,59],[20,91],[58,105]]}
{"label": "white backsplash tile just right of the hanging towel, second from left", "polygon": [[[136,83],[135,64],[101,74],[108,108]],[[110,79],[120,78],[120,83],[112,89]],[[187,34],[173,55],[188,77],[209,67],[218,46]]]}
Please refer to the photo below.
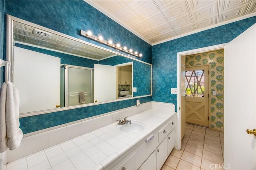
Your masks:
{"label": "white backsplash tile just right of the hanging towel, second from left", "polygon": [[24,156],[48,148],[48,132],[24,138]]}

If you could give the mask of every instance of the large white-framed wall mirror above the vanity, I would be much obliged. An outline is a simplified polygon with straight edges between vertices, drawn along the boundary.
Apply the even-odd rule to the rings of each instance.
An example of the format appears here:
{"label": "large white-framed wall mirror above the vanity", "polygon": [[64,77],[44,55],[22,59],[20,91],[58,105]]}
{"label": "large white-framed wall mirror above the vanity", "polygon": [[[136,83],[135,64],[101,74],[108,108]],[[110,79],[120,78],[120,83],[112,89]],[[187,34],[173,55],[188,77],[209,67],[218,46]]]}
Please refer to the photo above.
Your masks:
{"label": "large white-framed wall mirror above the vanity", "polygon": [[152,95],[152,65],[7,15],[20,117]]}

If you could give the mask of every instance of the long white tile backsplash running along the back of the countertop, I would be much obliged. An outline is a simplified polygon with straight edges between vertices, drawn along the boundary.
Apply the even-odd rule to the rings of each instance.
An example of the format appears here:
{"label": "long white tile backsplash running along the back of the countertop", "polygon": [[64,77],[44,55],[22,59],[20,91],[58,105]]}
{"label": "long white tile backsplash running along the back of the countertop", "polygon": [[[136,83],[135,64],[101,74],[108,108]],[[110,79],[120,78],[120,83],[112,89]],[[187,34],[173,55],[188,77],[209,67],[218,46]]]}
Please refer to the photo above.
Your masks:
{"label": "long white tile backsplash running along the back of the countertop", "polygon": [[[64,124],[63,127],[56,127],[56,129],[45,129],[37,134],[35,132],[28,133],[22,139],[20,147],[15,150],[7,150],[4,156],[4,164],[12,162],[24,156],[28,156],[48,147],[68,141],[80,135],[89,133],[106,125],[116,122],[117,119],[124,119],[124,117],[132,116],[137,113],[146,111],[148,109],[160,109],[175,111],[175,105],[162,102],[147,102],[140,106],[127,107],[114,112],[102,114],[101,116],[90,117],[90,119],[82,119],[75,121],[73,124]],[[6,155],[7,154],[7,155]],[[2,156],[1,156],[2,157]]]}

